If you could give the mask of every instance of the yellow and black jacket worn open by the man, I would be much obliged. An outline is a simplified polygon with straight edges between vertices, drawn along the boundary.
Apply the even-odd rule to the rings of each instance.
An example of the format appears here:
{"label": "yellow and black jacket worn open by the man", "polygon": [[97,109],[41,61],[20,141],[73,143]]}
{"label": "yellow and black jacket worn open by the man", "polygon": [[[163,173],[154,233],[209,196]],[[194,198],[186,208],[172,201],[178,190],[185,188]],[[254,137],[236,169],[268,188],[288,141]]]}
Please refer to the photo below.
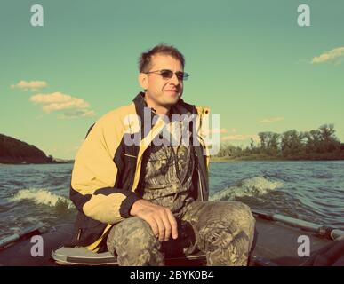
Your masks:
{"label": "yellow and black jacket worn open by the man", "polygon": [[[131,217],[132,203],[140,199],[140,167],[143,154],[150,142],[159,135],[164,122],[158,119],[151,130],[144,131],[144,93],[140,92],[129,106],[119,107],[100,118],[88,131],[76,154],[70,199],[76,205],[75,233],[72,246],[87,247],[93,251],[105,250],[105,237],[112,225]],[[207,201],[209,196],[208,149],[204,144],[202,122],[209,109],[188,105],[182,99],[176,104],[180,114],[197,114],[192,133],[196,163],[193,173],[193,197]],[[128,117],[138,117],[141,123],[132,123]],[[190,129],[191,130],[191,129]],[[135,136],[140,133],[140,136]],[[138,143],[128,146],[126,139],[140,137]],[[205,153],[205,154],[204,154]]]}

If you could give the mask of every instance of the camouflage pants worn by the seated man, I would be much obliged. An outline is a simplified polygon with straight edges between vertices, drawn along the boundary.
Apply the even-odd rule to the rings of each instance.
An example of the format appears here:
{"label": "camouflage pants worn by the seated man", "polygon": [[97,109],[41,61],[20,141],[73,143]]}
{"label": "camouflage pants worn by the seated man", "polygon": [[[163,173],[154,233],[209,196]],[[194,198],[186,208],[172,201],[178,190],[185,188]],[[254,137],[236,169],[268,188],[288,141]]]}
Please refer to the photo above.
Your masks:
{"label": "camouflage pants worn by the seated man", "polygon": [[160,242],[148,223],[130,217],[108,233],[109,252],[119,265],[164,265],[165,256],[182,256],[197,249],[205,253],[207,265],[247,265],[252,248],[254,218],[238,201],[194,201],[177,219],[178,239]]}

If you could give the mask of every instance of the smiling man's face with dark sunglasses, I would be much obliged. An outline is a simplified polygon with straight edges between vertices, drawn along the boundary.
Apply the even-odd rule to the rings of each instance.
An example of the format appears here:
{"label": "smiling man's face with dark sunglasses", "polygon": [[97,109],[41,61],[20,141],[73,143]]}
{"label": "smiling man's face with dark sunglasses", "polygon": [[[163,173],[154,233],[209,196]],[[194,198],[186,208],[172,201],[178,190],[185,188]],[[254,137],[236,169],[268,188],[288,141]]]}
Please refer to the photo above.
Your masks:
{"label": "smiling man's face with dark sunglasses", "polygon": [[[172,70],[172,72],[183,72],[179,60],[173,59],[170,55],[156,54],[152,57],[152,64],[148,72],[157,70]],[[183,92],[183,81],[175,74],[172,78],[163,78],[159,72],[147,75],[146,85],[148,99],[155,102],[157,106],[174,105]]]}

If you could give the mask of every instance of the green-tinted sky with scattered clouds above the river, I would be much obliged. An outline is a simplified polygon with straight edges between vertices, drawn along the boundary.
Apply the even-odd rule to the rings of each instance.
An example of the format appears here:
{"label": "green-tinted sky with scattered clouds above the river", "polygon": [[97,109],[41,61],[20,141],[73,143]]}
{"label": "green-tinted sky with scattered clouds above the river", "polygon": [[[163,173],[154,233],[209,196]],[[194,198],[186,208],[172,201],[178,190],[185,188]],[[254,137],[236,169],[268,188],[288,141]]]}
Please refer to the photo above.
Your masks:
{"label": "green-tinted sky with scattered clouds above the river", "polygon": [[[44,26],[31,6],[41,4]],[[298,25],[308,4],[310,26]],[[183,99],[220,114],[221,141],[334,123],[344,141],[344,2],[10,1],[0,4],[0,133],[73,159],[103,114],[137,95],[140,53],[186,58]]]}

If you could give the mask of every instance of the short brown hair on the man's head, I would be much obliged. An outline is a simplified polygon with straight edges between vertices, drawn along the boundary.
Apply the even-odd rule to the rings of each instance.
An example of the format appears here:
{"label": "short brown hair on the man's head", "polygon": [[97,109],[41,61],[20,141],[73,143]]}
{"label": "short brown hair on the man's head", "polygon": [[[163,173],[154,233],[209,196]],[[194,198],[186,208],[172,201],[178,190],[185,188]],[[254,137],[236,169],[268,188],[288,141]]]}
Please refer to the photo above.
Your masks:
{"label": "short brown hair on the man's head", "polygon": [[155,47],[153,47],[151,50],[148,50],[146,52],[142,52],[139,58],[139,70],[140,73],[148,72],[149,68],[152,65],[152,56],[155,54],[164,54],[164,55],[170,55],[173,59],[177,59],[180,61],[183,69],[185,66],[185,59],[184,56],[178,51],[174,46],[167,45],[164,43],[159,43]]}

